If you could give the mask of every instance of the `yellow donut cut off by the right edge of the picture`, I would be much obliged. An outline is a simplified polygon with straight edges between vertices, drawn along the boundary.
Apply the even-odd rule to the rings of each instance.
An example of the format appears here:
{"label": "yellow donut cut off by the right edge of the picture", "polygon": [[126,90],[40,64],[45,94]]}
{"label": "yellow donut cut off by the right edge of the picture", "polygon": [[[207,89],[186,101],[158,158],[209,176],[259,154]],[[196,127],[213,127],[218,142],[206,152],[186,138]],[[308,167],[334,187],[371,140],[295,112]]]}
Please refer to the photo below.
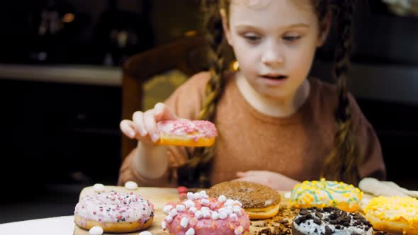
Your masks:
{"label": "yellow donut cut off by the right edge of the picture", "polygon": [[373,197],[364,213],[374,229],[418,234],[418,200],[413,197]]}

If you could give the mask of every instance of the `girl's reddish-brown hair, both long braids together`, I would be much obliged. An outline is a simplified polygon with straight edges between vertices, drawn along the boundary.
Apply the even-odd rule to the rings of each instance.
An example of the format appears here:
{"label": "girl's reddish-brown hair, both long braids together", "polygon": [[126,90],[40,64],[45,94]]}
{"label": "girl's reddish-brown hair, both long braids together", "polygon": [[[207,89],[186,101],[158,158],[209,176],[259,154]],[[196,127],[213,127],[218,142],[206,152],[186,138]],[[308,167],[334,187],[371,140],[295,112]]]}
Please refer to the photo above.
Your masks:
{"label": "girl's reddish-brown hair, both long braids together", "polygon": [[[205,103],[198,115],[198,120],[215,119],[216,104],[225,88],[223,72],[227,69],[225,35],[222,28],[220,9],[225,9],[229,16],[231,0],[203,0],[205,13],[205,39],[208,43],[208,65],[210,79],[206,84]],[[334,147],[324,160],[321,177],[329,180],[343,180],[347,183],[358,183],[357,166],[361,161],[357,154],[354,134],[352,132],[351,110],[348,99],[347,72],[349,69],[349,52],[351,51],[351,16],[354,10],[354,0],[312,0],[319,22],[324,21],[327,13],[336,16],[339,25],[339,45],[333,69],[337,81],[338,105],[335,110],[337,132],[334,137]],[[178,171],[179,185],[188,187],[208,188],[210,163],[215,156],[216,144],[212,147],[195,148],[188,153],[188,161]]]}

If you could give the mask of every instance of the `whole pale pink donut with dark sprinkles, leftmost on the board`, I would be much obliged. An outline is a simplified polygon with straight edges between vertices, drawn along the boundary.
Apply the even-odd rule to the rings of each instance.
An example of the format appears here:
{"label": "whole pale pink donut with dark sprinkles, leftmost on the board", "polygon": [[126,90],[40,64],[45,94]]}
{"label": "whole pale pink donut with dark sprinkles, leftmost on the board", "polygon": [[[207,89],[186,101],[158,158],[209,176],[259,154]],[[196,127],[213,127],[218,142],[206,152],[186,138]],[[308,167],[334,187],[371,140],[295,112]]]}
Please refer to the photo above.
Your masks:
{"label": "whole pale pink donut with dark sprinkles, leftmost on the board", "polygon": [[105,192],[86,195],[77,203],[74,222],[83,229],[102,227],[123,233],[145,229],[154,219],[154,205],[134,193]]}

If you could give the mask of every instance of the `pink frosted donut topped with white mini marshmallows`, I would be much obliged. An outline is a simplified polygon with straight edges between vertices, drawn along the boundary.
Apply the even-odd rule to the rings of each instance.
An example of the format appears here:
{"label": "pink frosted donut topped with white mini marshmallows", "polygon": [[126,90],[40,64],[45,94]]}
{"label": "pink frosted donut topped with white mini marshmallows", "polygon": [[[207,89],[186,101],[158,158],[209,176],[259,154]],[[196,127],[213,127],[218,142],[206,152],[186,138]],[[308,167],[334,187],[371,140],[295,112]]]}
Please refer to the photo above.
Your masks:
{"label": "pink frosted donut topped with white mini marshmallows", "polygon": [[241,202],[209,197],[205,191],[187,193],[187,199],[169,203],[161,226],[175,235],[240,235],[249,232],[249,217]]}

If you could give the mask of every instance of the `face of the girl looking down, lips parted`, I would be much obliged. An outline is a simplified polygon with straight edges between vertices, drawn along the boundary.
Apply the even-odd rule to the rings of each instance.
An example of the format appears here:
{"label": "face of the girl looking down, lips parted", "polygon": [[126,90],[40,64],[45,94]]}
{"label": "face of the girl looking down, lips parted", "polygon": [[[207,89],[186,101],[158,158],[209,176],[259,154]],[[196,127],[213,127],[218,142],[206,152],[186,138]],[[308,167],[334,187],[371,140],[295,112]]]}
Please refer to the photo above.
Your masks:
{"label": "face of the girl looking down, lips parted", "polygon": [[308,0],[232,0],[222,19],[228,43],[249,84],[269,98],[293,97],[306,79],[320,25]]}

